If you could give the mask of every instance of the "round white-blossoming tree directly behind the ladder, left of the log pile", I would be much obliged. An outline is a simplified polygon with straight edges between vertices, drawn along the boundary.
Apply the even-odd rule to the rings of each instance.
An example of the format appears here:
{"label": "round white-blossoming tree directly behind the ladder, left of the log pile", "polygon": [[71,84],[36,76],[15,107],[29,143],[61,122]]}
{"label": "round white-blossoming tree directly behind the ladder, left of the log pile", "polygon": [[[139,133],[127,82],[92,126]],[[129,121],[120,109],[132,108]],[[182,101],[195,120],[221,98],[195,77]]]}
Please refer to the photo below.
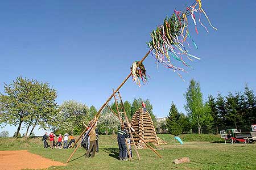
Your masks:
{"label": "round white-blossoming tree directly behind the ladder, left of the log pile", "polygon": [[98,119],[98,128],[100,131],[105,130],[106,135],[108,135],[109,131],[116,131],[118,129],[119,120],[118,117],[113,113],[105,113]]}

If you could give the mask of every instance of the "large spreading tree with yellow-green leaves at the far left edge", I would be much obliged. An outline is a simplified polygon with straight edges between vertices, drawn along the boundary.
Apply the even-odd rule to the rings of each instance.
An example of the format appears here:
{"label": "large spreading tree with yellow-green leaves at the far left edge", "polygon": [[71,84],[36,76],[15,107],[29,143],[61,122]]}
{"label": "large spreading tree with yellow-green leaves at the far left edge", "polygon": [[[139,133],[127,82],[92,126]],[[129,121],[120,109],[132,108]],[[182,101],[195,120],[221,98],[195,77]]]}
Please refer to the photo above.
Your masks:
{"label": "large spreading tree with yellow-green leaves at the far left edge", "polygon": [[30,133],[36,125],[46,128],[56,111],[56,91],[48,83],[30,80],[19,76],[11,84],[4,85],[4,94],[0,94],[0,123],[18,126],[15,137],[18,137],[24,123]]}

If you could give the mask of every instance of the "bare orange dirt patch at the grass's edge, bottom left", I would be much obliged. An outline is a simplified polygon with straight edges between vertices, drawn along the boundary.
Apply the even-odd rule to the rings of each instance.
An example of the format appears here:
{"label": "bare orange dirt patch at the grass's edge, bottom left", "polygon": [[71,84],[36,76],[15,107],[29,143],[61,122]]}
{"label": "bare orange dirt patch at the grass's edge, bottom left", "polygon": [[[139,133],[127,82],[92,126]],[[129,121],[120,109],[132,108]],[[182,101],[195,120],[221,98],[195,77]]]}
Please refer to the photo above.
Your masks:
{"label": "bare orange dirt patch at the grass's edge, bottom left", "polygon": [[60,165],[65,164],[31,154],[27,150],[0,151],[1,170],[42,169]]}

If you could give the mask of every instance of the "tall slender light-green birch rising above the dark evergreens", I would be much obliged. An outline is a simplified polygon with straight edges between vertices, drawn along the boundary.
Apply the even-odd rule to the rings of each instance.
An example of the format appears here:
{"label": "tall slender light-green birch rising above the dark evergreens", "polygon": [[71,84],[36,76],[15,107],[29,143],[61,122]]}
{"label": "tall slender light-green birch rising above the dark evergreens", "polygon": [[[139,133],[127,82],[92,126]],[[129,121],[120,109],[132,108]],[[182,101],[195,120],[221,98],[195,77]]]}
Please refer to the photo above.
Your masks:
{"label": "tall slender light-green birch rising above the dark evergreens", "polygon": [[197,126],[200,134],[202,132],[201,127],[209,125],[212,116],[208,114],[208,107],[203,103],[203,94],[199,82],[192,79],[184,96],[186,98],[184,108],[188,112],[192,126]]}

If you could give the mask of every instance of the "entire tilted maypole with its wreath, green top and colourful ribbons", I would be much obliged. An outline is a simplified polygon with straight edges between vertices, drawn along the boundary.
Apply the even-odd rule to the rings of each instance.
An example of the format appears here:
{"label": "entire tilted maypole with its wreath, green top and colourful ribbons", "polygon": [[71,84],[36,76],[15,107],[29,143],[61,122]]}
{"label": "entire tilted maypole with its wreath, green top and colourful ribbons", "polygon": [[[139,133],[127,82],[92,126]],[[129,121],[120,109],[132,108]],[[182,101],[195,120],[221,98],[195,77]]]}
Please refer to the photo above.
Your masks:
{"label": "entire tilted maypole with its wreath, green top and colourful ribbons", "polygon": [[[196,14],[198,14],[198,16],[196,16]],[[132,76],[134,82],[136,82],[138,86],[141,86],[141,82],[143,82],[143,84],[147,83],[148,75],[146,75],[146,69],[142,62],[144,61],[144,59],[146,59],[148,54],[151,53],[152,56],[156,59],[157,63],[161,63],[164,67],[171,69],[180,77],[181,74],[178,73],[179,71],[187,71],[185,71],[185,69],[183,69],[182,67],[175,66],[172,60],[179,61],[184,66],[190,67],[190,65],[184,61],[184,58],[187,58],[189,61],[200,59],[199,57],[190,54],[188,50],[191,48],[188,40],[192,42],[195,48],[198,48],[196,42],[192,39],[191,35],[189,34],[188,19],[190,17],[193,20],[193,23],[195,25],[195,31],[197,34],[199,33],[197,29],[197,22],[200,23],[200,25],[204,27],[207,32],[209,32],[208,28],[201,22],[201,15],[204,15],[205,18],[208,20],[209,25],[213,29],[217,30],[217,28],[213,27],[212,23],[210,23],[208,15],[203,10],[201,0],[196,0],[191,6],[188,6],[185,9],[185,11],[174,10],[174,13],[171,15],[171,17],[165,18],[163,24],[159,25],[150,33],[152,40],[147,42],[148,48],[150,48],[150,50],[141,59],[141,61],[135,61],[133,63],[130,74],[127,75],[125,80],[123,80],[123,82],[117,87],[113,94],[110,95],[110,97],[98,110],[96,117],[94,118],[92,127],[96,124],[102,110],[106,107],[106,105],[112,99],[114,94],[119,91],[123,84],[126,83],[130,76]],[[82,137],[82,134],[85,133],[85,131],[86,129],[82,131],[76,143]],[[89,133],[89,131],[90,129],[87,131],[87,133]],[[69,156],[67,163],[72,158],[73,154],[75,154],[77,148],[78,147],[76,147],[76,149]]]}

